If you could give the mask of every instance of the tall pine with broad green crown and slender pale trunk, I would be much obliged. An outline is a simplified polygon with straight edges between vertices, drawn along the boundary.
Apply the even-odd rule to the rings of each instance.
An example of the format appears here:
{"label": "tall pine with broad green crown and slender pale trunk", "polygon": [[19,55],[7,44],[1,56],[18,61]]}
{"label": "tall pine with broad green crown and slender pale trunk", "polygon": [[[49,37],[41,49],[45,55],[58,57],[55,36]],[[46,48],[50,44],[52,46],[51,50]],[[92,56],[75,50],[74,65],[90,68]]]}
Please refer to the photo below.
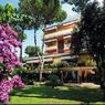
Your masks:
{"label": "tall pine with broad green crown and slender pale trunk", "polygon": [[[60,0],[20,0],[21,12],[33,18],[34,30],[40,27],[43,28],[42,56],[41,61],[40,81],[42,80],[42,70],[44,64],[44,34],[46,24],[61,22],[66,18],[65,11],[62,10]],[[35,33],[35,31],[34,31]],[[35,38],[35,34],[34,34]],[[34,40],[35,42],[35,40]]]}

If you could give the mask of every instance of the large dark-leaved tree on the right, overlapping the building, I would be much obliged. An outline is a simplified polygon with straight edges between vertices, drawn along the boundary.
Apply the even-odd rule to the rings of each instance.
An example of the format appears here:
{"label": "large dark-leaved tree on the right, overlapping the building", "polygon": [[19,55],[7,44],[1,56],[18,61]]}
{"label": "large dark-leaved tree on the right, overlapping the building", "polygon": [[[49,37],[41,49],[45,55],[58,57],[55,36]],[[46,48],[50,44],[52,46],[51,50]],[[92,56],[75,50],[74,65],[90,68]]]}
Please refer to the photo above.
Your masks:
{"label": "large dark-leaved tree on the right, overlapping the building", "polygon": [[[105,6],[104,6],[105,7]],[[96,1],[88,3],[78,30],[72,35],[72,51],[80,54],[83,49],[95,60],[101,87],[105,88],[105,11]]]}

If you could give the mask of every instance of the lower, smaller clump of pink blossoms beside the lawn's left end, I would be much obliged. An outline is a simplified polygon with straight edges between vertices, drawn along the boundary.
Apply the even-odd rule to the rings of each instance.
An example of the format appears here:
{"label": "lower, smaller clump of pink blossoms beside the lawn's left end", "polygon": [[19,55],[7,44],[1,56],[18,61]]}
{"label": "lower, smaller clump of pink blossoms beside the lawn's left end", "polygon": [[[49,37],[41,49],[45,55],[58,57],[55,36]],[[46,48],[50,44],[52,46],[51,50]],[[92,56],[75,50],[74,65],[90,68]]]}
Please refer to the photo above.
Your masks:
{"label": "lower, smaller clump of pink blossoms beside the lawn's left end", "polygon": [[18,75],[13,76],[11,81],[2,80],[0,82],[0,102],[1,103],[6,105],[9,104],[9,94],[14,86],[24,87],[24,84],[22,83],[21,78]]}

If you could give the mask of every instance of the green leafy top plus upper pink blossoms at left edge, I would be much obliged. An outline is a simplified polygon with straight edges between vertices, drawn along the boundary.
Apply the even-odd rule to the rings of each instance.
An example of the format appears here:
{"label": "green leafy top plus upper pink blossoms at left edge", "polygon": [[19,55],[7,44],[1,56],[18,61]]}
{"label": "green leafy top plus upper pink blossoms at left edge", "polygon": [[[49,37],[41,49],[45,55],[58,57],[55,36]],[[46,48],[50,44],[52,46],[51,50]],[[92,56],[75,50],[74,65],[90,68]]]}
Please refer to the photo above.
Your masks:
{"label": "green leafy top plus upper pink blossoms at left edge", "polygon": [[21,65],[15,48],[21,46],[18,33],[10,25],[15,9],[11,3],[0,4],[0,72],[7,72]]}

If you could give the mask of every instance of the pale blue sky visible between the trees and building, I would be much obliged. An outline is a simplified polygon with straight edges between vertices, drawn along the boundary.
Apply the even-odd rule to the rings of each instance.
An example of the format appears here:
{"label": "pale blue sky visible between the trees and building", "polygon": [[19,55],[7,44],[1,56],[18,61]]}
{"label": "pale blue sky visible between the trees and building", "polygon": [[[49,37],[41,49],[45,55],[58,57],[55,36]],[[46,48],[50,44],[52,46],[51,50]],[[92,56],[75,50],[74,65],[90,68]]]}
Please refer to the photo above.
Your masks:
{"label": "pale blue sky visible between the trees and building", "polygon": [[[102,2],[103,0],[98,0],[99,2]],[[18,2],[19,0],[0,0],[0,4],[6,4],[6,3],[12,3],[15,8],[18,8]],[[80,14],[77,14],[76,12],[72,11],[72,7],[67,3],[62,4],[62,9],[66,11],[67,13],[67,18],[65,21],[72,21],[75,19],[80,18]],[[28,45],[34,45],[34,32],[33,30],[25,30],[24,33],[27,34],[27,40],[23,42],[23,56],[28,56],[24,53],[24,50]],[[43,35],[43,32],[41,30],[36,31],[36,42],[38,45],[41,46],[41,38]],[[19,51],[18,51],[18,55],[19,55]]]}

